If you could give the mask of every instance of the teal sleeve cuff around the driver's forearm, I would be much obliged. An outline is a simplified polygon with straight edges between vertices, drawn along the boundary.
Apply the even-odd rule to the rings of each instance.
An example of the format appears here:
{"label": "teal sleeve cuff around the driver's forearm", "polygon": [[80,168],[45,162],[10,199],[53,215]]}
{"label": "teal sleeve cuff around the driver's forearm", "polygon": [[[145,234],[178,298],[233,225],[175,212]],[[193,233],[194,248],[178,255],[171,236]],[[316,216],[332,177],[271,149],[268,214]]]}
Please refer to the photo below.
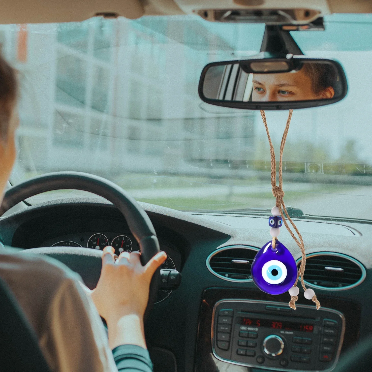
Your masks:
{"label": "teal sleeve cuff around the driver's forearm", "polygon": [[112,350],[119,372],[153,372],[150,354],[137,345],[120,345]]}

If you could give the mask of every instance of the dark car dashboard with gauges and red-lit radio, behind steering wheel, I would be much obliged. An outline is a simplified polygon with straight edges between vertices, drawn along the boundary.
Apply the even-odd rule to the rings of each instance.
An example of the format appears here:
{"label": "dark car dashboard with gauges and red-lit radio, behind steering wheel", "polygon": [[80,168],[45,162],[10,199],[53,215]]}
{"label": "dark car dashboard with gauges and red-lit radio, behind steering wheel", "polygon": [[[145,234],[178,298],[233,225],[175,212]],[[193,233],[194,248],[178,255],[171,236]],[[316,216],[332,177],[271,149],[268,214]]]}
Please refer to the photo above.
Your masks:
{"label": "dark car dashboard with gauges and red-lit radio, behind steering wheel", "polygon": [[[159,292],[145,324],[155,372],[331,371],[339,357],[372,333],[372,298],[365,295],[372,288],[372,224],[296,220],[310,257],[307,267],[311,257],[315,262],[333,255],[334,264],[350,267],[352,275],[360,271],[362,278],[333,288],[313,280],[321,310],[300,293],[293,311],[288,294],[265,294],[241,269],[224,273],[225,261],[219,261],[254,257],[269,240],[266,217],[141,206],[167,253],[163,267],[182,273],[177,289]],[[0,241],[22,249],[101,250],[110,244],[117,254],[139,248],[121,213],[95,198],[60,199],[0,218]],[[285,230],[280,241],[298,262],[301,252]],[[237,249],[246,256],[234,257]],[[338,278],[337,270],[331,274]]]}

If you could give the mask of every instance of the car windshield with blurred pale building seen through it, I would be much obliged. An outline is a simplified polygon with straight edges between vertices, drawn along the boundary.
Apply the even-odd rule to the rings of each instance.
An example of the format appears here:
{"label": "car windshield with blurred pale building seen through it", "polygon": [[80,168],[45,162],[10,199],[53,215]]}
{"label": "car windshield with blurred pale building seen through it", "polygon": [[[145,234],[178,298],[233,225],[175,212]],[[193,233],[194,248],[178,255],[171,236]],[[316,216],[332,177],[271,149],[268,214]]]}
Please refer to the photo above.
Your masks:
{"label": "car windshield with blurred pale building seen through it", "polygon": [[[294,111],[284,200],[304,214],[372,219],[372,17],[331,15],[325,28],[292,35],[306,55],[343,65],[349,93],[334,105]],[[198,96],[205,64],[256,54],[263,32],[261,24],[198,16],[0,26],[3,54],[21,80],[10,181],[74,170],[179,210],[271,209],[260,113]],[[287,115],[266,112],[277,154]]]}

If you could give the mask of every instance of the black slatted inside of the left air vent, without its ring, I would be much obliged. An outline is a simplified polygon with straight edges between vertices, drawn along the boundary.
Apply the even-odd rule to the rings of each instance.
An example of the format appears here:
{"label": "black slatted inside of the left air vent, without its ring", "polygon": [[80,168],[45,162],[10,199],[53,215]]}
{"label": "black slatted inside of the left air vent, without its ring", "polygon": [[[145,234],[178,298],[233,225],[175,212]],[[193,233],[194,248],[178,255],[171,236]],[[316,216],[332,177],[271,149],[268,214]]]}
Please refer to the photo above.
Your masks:
{"label": "black slatted inside of the left air vent, without its ring", "polygon": [[[211,257],[209,266],[215,273],[225,278],[230,278],[231,275],[242,275],[246,279],[251,279],[251,265],[256,254],[257,251],[250,248],[228,248]],[[231,260],[248,260],[249,263],[233,263]]]}

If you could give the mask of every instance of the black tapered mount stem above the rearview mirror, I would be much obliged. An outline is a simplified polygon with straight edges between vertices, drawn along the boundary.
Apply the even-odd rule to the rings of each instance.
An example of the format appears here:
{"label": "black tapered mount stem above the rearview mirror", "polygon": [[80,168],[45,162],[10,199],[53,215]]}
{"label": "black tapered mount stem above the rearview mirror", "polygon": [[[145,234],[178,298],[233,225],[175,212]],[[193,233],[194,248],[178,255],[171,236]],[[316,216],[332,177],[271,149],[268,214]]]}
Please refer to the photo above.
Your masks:
{"label": "black tapered mount stem above the rearview mirror", "polygon": [[285,57],[287,54],[304,55],[289,31],[272,25],[265,26],[260,52],[264,52],[267,58]]}

